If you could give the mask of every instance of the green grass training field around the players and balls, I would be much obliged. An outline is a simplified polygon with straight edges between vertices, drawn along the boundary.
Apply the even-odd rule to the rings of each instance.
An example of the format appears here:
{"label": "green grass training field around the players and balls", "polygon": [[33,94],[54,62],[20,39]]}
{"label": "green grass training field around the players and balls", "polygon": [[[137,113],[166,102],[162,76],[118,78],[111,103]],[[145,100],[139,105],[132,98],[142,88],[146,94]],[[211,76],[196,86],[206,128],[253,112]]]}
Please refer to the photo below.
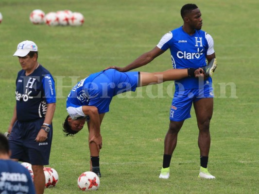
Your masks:
{"label": "green grass training field around the players and balls", "polygon": [[[89,170],[87,130],[64,137],[66,96],[80,79],[107,66],[124,66],[153,49],[161,36],[182,25],[187,0],[0,0],[0,132],[8,128],[20,69],[17,44],[35,41],[38,61],[52,72],[57,107],[50,165],[59,174],[46,194],[82,194],[77,178]],[[102,124],[101,186],[98,194],[258,194],[259,65],[258,0],[193,0],[203,30],[212,35],[218,68],[211,120],[209,171],[198,178],[199,149],[195,114],[185,121],[171,162],[171,177],[159,179],[163,139],[169,124],[173,83],[138,88],[114,97]],[[69,9],[85,16],[82,27],[33,25],[32,10]],[[171,68],[170,52],[140,71]]]}

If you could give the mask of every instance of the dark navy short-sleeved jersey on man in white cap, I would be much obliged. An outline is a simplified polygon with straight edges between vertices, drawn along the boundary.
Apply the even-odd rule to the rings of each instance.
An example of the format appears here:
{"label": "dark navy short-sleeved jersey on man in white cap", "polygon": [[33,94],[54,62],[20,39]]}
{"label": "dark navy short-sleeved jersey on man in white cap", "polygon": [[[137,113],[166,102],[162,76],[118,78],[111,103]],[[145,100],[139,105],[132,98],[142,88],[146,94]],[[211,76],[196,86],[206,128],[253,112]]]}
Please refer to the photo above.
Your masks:
{"label": "dark navy short-sleeved jersey on man in white cap", "polygon": [[55,84],[51,73],[39,65],[29,76],[18,72],[16,80],[17,120],[28,122],[45,117],[47,104],[56,102]]}

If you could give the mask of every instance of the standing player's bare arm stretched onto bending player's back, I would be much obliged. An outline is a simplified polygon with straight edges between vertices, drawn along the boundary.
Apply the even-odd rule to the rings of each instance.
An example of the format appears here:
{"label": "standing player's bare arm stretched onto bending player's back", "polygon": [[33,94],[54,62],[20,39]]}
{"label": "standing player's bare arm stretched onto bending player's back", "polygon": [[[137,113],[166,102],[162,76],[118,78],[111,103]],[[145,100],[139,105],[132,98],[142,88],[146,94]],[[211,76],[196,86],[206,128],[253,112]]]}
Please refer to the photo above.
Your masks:
{"label": "standing player's bare arm stretched onto bending player's back", "polygon": [[116,69],[121,72],[130,71],[132,69],[136,69],[138,67],[141,67],[143,65],[150,63],[151,61],[153,61],[157,56],[161,55],[162,53],[164,53],[164,50],[159,49],[158,47],[155,47],[154,49],[150,50],[149,52],[146,52],[146,53],[140,55],[135,61],[133,61],[131,64],[129,64],[125,67],[109,66],[106,69]]}

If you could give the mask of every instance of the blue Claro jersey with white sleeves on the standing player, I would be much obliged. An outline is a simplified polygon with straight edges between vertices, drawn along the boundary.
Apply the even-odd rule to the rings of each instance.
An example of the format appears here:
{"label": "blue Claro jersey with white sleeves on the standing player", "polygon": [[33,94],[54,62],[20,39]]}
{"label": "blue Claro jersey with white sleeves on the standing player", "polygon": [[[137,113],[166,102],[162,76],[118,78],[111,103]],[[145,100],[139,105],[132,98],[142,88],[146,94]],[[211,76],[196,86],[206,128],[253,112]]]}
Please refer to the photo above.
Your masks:
{"label": "blue Claro jersey with white sleeves on the standing player", "polygon": [[[170,49],[173,68],[199,68],[207,65],[206,56],[214,53],[212,37],[202,30],[195,30],[193,35],[184,32],[182,26],[166,33],[157,44],[162,50]],[[205,84],[212,85],[209,77]],[[175,81],[175,90],[198,88],[196,78],[184,78]]]}

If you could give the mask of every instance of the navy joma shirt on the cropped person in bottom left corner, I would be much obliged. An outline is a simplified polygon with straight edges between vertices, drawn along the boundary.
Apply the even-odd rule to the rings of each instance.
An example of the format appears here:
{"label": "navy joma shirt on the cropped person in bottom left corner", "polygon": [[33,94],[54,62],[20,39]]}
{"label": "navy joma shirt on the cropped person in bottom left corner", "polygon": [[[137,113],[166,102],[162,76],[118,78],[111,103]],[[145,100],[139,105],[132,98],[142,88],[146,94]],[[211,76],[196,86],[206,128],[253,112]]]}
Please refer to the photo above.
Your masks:
{"label": "navy joma shirt on the cropped person in bottom left corner", "polygon": [[0,160],[1,194],[35,194],[28,169],[11,160]]}

